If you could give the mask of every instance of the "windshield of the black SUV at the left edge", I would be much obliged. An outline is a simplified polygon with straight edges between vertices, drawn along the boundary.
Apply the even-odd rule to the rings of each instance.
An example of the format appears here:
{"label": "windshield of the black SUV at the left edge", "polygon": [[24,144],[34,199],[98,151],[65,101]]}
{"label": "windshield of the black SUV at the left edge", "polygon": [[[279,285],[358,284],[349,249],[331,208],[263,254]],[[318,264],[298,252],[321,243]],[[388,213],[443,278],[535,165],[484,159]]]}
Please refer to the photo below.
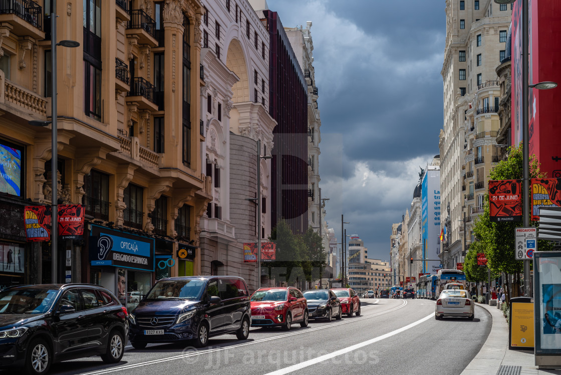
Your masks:
{"label": "windshield of the black SUV at the left edge", "polygon": [[44,314],[57,293],[41,287],[4,290],[0,292],[0,314]]}

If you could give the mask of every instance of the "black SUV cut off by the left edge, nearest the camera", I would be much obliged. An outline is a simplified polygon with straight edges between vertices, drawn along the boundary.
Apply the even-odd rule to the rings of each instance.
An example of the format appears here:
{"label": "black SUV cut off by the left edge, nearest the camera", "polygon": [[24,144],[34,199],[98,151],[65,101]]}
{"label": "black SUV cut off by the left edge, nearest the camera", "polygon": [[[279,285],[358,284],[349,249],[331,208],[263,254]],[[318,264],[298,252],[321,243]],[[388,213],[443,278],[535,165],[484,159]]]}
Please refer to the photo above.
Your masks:
{"label": "black SUV cut off by the left edge, nearest the camera", "polygon": [[117,363],[127,333],[127,310],[97,285],[26,285],[0,292],[0,369],[45,374],[54,362],[92,355]]}

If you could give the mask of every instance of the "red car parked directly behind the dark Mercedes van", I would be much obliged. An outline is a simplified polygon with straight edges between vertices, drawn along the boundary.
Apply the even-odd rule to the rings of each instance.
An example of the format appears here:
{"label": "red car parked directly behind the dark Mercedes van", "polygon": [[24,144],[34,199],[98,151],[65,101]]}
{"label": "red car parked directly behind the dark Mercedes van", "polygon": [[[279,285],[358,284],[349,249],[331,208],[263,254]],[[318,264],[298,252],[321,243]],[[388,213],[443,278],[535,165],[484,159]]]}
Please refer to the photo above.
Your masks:
{"label": "red car parked directly behind the dark Mercedes van", "polygon": [[251,326],[280,326],[288,331],[293,323],[308,325],[308,305],[302,292],[293,287],[259,288],[251,295]]}

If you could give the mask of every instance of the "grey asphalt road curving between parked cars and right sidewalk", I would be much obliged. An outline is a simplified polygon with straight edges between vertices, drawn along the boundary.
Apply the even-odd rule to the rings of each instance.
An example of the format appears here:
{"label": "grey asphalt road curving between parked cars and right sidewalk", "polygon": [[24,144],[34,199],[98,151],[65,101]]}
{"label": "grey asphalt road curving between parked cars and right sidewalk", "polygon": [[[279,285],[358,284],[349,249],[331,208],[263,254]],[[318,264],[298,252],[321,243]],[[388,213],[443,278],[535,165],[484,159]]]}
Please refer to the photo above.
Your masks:
{"label": "grey asphalt road curving between parked cars and right sidewalk", "polygon": [[54,364],[52,374],[459,374],[491,329],[490,315],[434,319],[434,301],[362,299],[360,317],[294,324],[288,332],[251,328],[249,339],[219,336],[186,345],[128,346],[121,363],[91,357]]}

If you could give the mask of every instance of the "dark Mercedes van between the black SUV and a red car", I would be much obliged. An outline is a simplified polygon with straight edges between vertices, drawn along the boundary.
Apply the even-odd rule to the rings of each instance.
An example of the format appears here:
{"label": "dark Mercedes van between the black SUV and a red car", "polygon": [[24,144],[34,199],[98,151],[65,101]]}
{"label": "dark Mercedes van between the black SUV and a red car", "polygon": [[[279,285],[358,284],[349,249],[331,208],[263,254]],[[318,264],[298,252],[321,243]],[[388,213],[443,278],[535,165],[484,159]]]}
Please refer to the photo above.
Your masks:
{"label": "dark Mercedes van between the black SUV and a red car", "polygon": [[169,277],[159,280],[132,310],[129,339],[135,349],[149,342],[194,340],[203,347],[211,336],[249,336],[251,310],[246,282],[234,276]]}

